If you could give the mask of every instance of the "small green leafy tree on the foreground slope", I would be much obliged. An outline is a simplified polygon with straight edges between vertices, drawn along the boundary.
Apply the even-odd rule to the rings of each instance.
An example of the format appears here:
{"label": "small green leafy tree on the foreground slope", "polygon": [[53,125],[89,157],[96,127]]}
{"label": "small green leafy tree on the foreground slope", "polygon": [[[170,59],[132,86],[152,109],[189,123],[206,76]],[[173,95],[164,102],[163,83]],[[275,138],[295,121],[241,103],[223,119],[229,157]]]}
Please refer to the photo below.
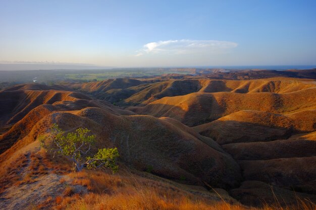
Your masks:
{"label": "small green leafy tree on the foreground slope", "polygon": [[66,133],[55,123],[48,136],[39,136],[39,142],[46,152],[54,153],[53,157],[58,153],[72,161],[75,171],[81,171],[85,167],[93,169],[104,166],[112,169],[113,173],[117,172],[118,149],[98,149],[93,157],[88,156],[91,146],[95,143],[95,135],[88,135],[88,132],[90,130],[87,128],[78,128],[76,132]]}

